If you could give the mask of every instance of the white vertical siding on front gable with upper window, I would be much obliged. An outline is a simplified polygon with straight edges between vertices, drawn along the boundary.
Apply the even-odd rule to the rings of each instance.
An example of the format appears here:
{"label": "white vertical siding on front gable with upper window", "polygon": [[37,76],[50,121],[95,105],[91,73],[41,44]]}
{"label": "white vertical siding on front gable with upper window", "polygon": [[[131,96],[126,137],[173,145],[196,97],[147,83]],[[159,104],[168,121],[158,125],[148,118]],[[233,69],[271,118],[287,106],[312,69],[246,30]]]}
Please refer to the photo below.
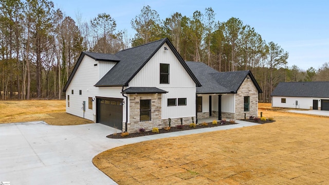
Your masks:
{"label": "white vertical siding on front gable with upper window", "polygon": [[[160,84],[160,63],[169,64],[169,84]],[[157,87],[168,91],[161,96],[161,119],[195,116],[195,82],[166,43],[129,82],[129,86]],[[168,98],[186,98],[187,105],[168,106]]]}

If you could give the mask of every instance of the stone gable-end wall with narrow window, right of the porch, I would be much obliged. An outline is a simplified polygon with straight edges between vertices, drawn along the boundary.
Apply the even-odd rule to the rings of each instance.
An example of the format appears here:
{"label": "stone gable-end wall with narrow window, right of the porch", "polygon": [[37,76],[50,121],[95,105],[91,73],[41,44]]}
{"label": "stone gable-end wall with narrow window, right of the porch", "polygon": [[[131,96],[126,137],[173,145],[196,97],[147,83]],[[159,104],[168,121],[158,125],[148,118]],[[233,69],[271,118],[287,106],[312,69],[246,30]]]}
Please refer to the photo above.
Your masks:
{"label": "stone gable-end wall with narrow window, right of the porch", "polygon": [[[244,97],[249,96],[249,112],[244,112]],[[245,79],[235,95],[235,116],[234,119],[244,119],[250,116],[258,117],[258,90],[251,79]]]}

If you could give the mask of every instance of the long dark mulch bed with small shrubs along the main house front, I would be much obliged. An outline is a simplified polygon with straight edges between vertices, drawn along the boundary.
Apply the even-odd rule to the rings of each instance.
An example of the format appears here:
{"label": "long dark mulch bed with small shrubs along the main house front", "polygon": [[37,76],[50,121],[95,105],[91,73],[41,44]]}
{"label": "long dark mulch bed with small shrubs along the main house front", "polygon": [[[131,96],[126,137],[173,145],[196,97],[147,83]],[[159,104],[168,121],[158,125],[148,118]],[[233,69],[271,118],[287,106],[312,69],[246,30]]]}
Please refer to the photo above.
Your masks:
{"label": "long dark mulch bed with small shrubs along the main house front", "polygon": [[203,126],[202,124],[196,124],[196,127],[189,127],[189,125],[182,125],[182,128],[177,128],[177,126],[170,127],[170,130],[166,131],[163,128],[159,128],[159,133],[153,133],[152,131],[147,132],[137,132],[137,133],[129,133],[128,136],[121,136],[121,133],[117,134],[111,134],[106,136],[107,138],[111,139],[123,139],[123,138],[133,138],[133,137],[139,137],[139,136],[149,136],[154,134],[161,134],[161,133],[170,133],[170,132],[178,132],[178,131],[187,131],[187,130],[193,130],[198,128],[207,128],[207,127],[215,127],[215,126],[224,126],[224,125],[230,125],[230,124],[237,124],[237,123],[230,123],[229,121],[223,121],[223,123],[218,122],[217,125],[213,125],[212,123],[208,123],[208,126]]}

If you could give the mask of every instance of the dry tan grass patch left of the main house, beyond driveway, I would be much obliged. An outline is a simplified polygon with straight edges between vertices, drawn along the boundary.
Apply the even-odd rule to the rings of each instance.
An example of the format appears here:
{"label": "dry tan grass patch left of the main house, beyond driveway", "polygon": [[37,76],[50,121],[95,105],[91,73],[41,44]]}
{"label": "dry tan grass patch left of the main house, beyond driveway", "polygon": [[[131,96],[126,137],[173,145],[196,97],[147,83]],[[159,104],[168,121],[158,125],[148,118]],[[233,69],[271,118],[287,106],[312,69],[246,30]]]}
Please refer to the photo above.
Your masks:
{"label": "dry tan grass patch left of the main house, beyond driveway", "polygon": [[92,123],[65,113],[65,100],[0,101],[0,123],[45,121],[52,125]]}

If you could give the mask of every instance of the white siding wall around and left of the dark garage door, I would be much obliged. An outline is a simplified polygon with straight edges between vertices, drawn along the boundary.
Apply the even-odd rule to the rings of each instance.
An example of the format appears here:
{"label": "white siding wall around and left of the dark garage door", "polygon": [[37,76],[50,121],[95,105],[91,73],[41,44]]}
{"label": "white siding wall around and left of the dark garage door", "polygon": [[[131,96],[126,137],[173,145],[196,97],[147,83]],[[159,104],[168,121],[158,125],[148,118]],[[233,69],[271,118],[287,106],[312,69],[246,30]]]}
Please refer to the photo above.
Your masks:
{"label": "white siding wall around and left of the dark garage door", "polygon": [[[94,64],[98,65],[95,66]],[[87,55],[84,56],[66,90],[66,113],[96,121],[96,96],[124,99],[121,95],[121,87],[94,86],[99,81],[100,69],[102,67],[103,65],[100,65],[100,62],[95,61]],[[108,70],[111,69],[109,65],[107,65],[107,68]],[[73,95],[71,94],[72,89],[74,90]],[[79,90],[82,91],[82,95],[79,95]],[[69,107],[67,106],[67,95],[70,96]],[[93,109],[88,108],[88,97],[92,97],[95,100],[93,101]],[[83,101],[86,102],[84,113],[82,110]],[[126,106],[125,103],[123,106]],[[125,111],[123,112],[123,121],[125,121]]]}

